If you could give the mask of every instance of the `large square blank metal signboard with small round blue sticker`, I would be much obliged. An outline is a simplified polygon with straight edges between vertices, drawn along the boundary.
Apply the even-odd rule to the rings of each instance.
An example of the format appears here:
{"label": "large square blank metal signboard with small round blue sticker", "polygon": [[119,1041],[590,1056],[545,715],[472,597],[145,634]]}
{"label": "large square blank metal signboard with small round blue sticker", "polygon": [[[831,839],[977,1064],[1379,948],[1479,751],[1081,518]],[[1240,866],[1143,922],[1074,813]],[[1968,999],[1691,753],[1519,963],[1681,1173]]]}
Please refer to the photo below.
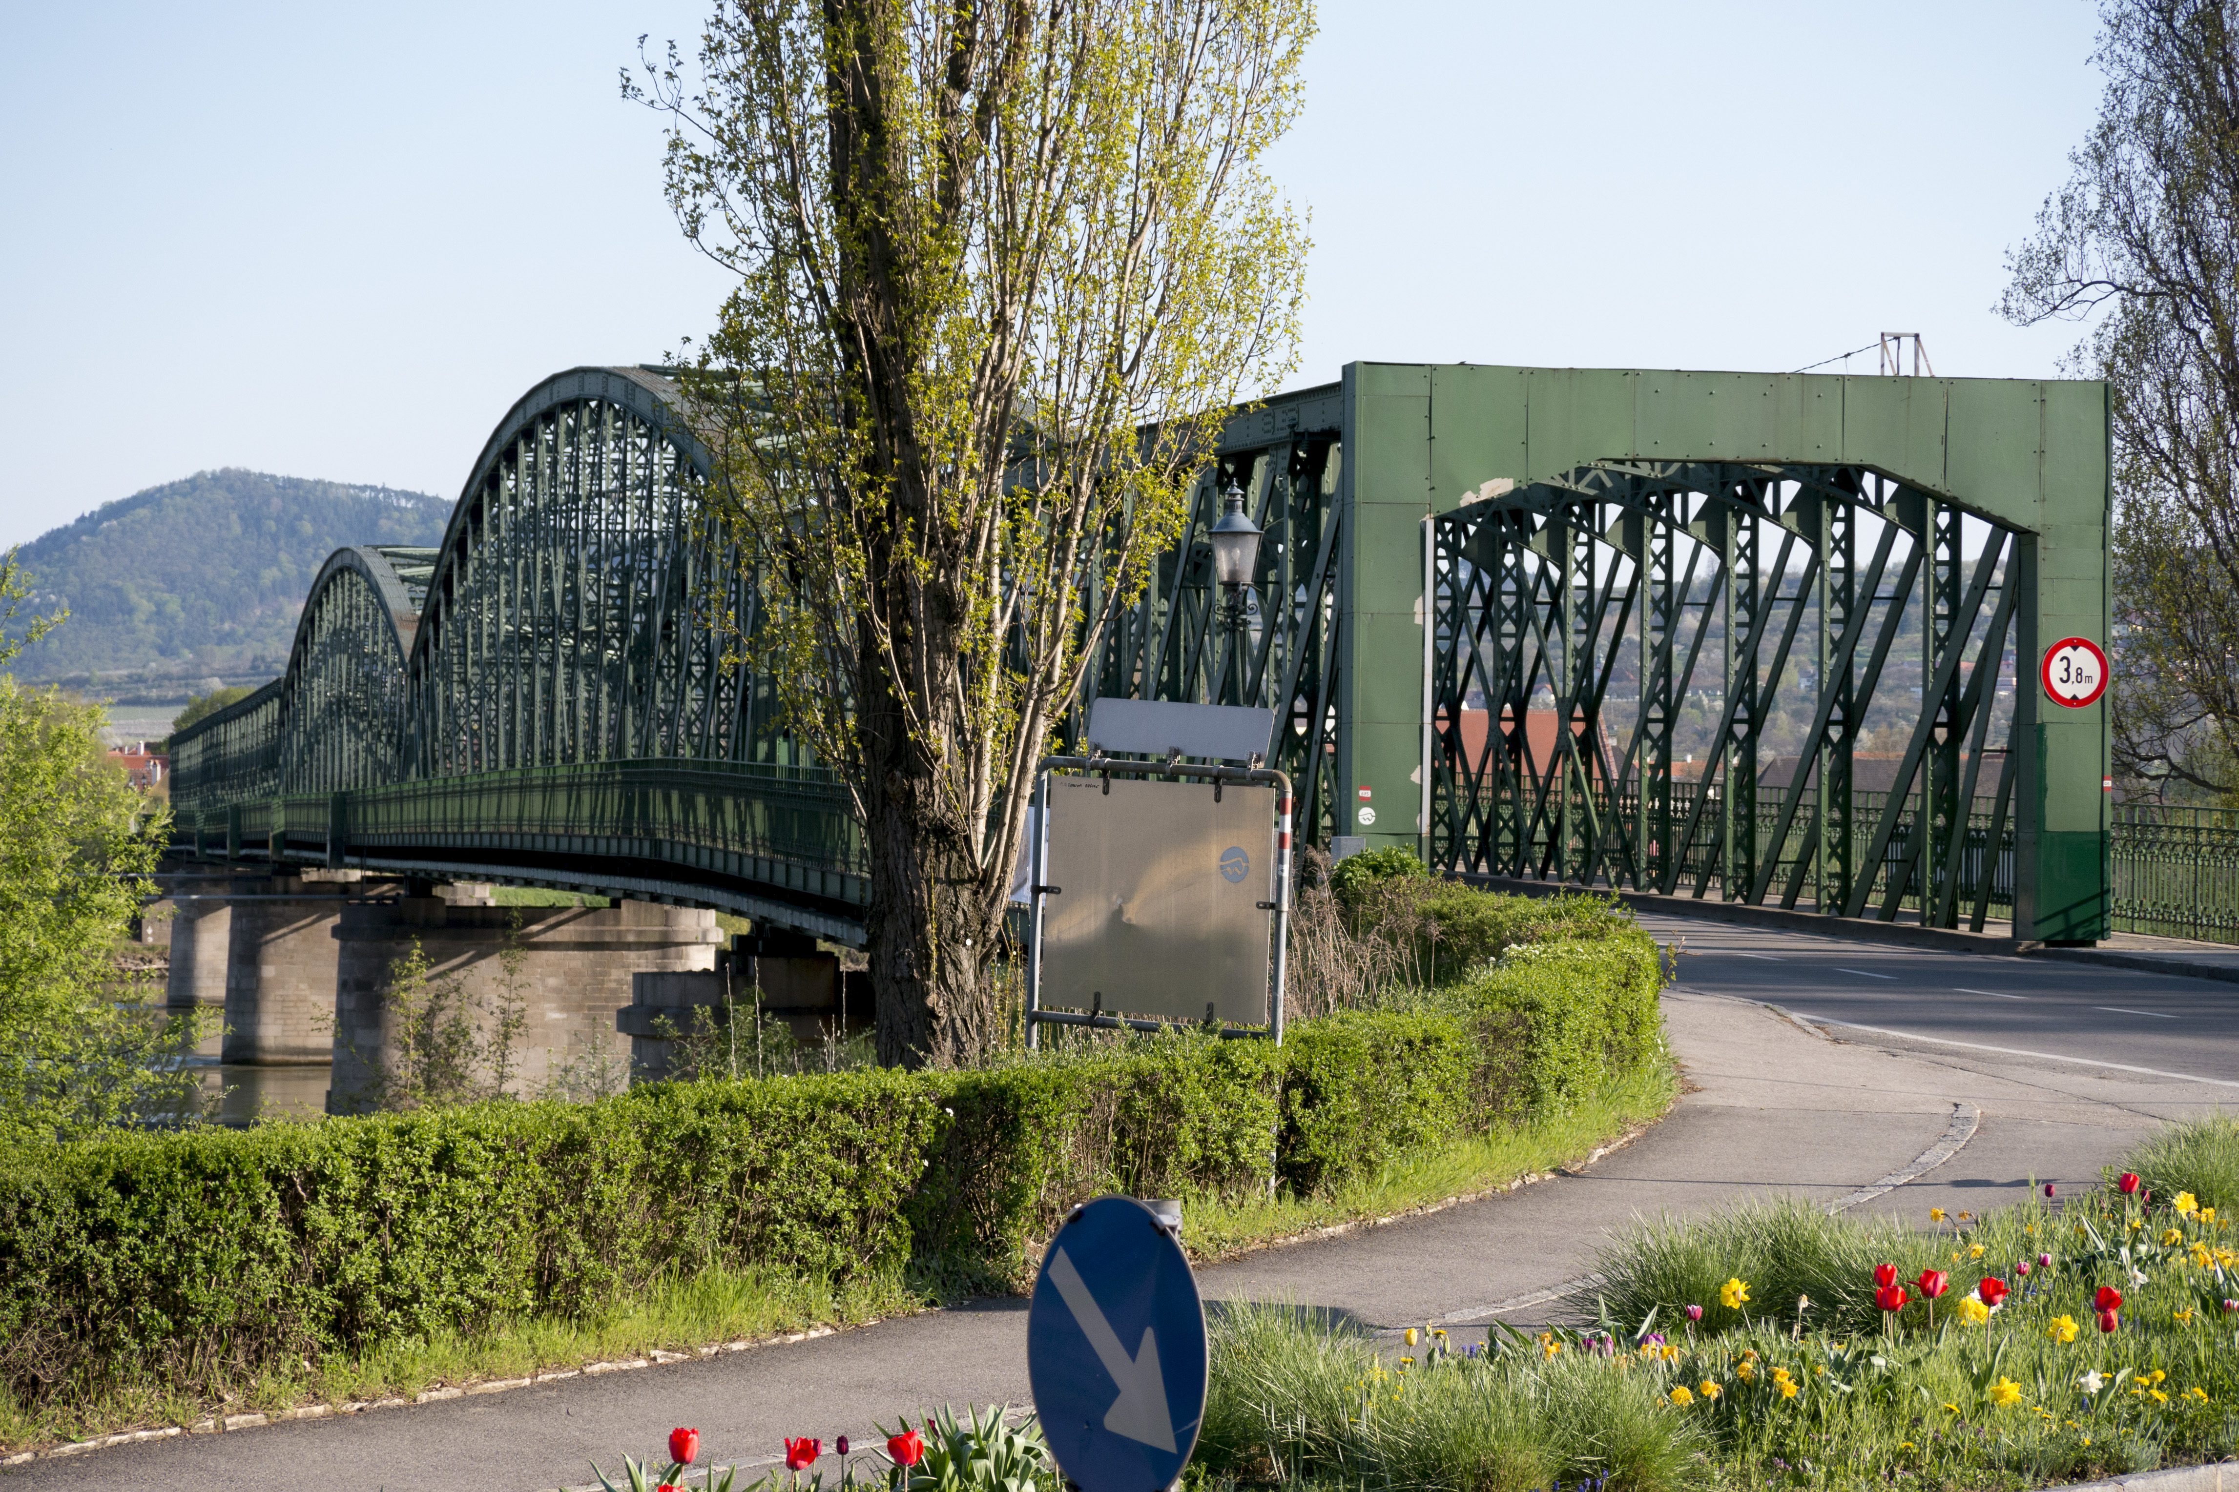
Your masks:
{"label": "large square blank metal signboard with small round blue sticker", "polygon": [[1046,778],[1037,1004],[1258,1024],[1276,790]]}

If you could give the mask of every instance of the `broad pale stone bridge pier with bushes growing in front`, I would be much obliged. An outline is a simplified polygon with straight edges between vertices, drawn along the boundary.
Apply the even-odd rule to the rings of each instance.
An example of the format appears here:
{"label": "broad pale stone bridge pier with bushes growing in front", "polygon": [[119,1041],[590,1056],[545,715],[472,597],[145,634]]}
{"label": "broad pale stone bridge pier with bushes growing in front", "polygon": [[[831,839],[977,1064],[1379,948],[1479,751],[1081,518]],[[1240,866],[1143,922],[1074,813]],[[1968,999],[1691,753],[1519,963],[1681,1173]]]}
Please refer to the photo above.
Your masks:
{"label": "broad pale stone bridge pier with bushes growing in front", "polygon": [[519,1009],[506,1092],[566,1096],[629,1083],[613,1013],[631,1002],[631,975],[712,971],[723,942],[714,913],[687,906],[513,908],[437,897],[345,904],[331,935],[340,957],[329,1114],[376,1107],[381,1074],[396,1071],[405,1054],[394,966],[414,942],[428,960],[430,986],[457,1000],[448,1009],[468,1011],[481,1045],[497,1040],[508,1004]]}

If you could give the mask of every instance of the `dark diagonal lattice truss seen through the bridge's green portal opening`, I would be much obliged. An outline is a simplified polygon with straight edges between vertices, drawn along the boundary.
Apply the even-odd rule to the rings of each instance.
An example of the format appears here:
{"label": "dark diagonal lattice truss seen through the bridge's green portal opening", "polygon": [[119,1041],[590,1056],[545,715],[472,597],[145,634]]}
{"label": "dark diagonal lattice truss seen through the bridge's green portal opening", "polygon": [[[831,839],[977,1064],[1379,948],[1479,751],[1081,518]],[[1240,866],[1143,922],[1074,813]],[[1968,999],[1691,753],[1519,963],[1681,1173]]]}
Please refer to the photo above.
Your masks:
{"label": "dark diagonal lattice truss seen through the bridge's green portal opening", "polygon": [[[1605,461],[1440,517],[1433,861],[1789,908],[1809,888],[1849,917],[1910,899],[1982,928],[2015,787],[2015,539],[1870,468],[1805,463]],[[1881,689],[1908,651],[1921,705],[1885,720],[1903,752],[1861,816],[1861,729],[1876,700],[1908,714]],[[1630,709],[1612,709],[1621,660]],[[1773,700],[1798,693],[1809,725],[1767,790]],[[1675,772],[1690,696],[1715,700],[1688,731],[1695,781]],[[1554,720],[1538,749],[1534,707]]]}

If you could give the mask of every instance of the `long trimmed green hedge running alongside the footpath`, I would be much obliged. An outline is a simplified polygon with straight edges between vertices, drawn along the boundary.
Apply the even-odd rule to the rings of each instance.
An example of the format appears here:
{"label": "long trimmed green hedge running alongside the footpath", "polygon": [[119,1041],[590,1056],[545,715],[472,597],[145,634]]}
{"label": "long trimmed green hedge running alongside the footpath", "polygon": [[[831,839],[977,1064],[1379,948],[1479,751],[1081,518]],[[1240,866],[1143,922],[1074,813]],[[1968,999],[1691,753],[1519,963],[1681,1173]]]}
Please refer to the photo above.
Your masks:
{"label": "long trimmed green hedge running alongside the footpath", "polygon": [[1099,1192],[1314,1192],[1632,1069],[1657,1042],[1657,948],[1601,922],[1601,942],[1514,948],[1281,1049],[1160,1036],[22,1150],[0,1159],[0,1378],[34,1405],[121,1371],[199,1380],[582,1313],[714,1262],[1010,1286]]}

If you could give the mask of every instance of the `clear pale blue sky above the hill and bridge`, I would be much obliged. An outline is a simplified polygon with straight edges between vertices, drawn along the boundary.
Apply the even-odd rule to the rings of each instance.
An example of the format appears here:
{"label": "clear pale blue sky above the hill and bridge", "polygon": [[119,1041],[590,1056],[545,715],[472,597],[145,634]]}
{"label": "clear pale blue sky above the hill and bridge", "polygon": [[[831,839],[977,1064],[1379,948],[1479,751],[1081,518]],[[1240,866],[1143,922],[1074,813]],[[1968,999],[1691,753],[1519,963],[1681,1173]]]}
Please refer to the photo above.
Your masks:
{"label": "clear pale blue sky above the hill and bridge", "polygon": [[[455,497],[544,374],[658,358],[721,275],[616,72],[699,4],[9,11],[0,544],[217,465]],[[1793,369],[1990,313],[2091,123],[2078,0],[1323,0],[1276,170],[1303,365]],[[1854,371],[1872,371],[1856,358]]]}

